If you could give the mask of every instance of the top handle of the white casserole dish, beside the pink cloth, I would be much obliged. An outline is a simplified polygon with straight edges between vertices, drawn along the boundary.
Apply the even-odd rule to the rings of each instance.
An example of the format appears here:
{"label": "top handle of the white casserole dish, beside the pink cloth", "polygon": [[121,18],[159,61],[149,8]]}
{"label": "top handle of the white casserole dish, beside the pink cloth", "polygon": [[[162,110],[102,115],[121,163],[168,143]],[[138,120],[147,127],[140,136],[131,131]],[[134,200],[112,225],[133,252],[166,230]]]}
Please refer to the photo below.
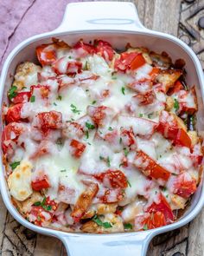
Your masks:
{"label": "top handle of the white casserole dish, beside the pink cloth", "polygon": [[130,2],[68,3],[54,32],[83,30],[147,30],[140,22],[136,6]]}

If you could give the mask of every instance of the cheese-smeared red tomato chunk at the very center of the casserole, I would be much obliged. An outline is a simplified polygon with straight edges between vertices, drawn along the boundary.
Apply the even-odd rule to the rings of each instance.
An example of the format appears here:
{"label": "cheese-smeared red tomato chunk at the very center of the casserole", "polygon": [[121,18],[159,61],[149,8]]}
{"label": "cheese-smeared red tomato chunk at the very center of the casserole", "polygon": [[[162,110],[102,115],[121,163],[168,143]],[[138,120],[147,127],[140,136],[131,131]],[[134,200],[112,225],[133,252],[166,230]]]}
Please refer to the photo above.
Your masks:
{"label": "cheese-smeared red tomato chunk at the very center of the casserole", "polygon": [[89,107],[87,110],[88,115],[92,117],[92,121],[94,121],[98,126],[102,126],[106,117],[105,111],[107,110],[107,107]]}

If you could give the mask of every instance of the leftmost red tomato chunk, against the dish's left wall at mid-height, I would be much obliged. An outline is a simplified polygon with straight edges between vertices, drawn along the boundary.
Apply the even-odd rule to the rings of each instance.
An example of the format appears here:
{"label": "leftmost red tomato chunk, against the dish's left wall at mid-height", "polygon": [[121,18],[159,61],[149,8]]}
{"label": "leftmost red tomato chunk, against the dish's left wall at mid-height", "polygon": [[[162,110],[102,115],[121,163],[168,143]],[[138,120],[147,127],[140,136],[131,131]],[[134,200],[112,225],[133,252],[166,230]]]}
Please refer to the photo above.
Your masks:
{"label": "leftmost red tomato chunk, against the dish's left wall at mid-height", "polygon": [[22,134],[22,130],[21,124],[16,122],[10,122],[5,126],[2,133],[2,148],[4,154],[8,152],[8,149],[12,150],[12,141],[17,141],[19,135]]}

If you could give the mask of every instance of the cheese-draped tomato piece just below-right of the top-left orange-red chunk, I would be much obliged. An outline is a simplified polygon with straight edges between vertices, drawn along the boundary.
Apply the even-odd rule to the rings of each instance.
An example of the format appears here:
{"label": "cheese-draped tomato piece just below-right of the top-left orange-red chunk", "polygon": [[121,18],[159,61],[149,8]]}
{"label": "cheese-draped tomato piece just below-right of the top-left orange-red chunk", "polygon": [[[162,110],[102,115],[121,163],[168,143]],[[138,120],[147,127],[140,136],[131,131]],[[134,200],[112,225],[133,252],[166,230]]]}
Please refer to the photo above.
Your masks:
{"label": "cheese-draped tomato piece just below-right of the top-left orange-red chunk", "polygon": [[75,75],[77,73],[80,73],[82,69],[82,63],[70,60],[67,57],[61,57],[61,59],[54,62],[54,65],[52,67],[57,75]]}

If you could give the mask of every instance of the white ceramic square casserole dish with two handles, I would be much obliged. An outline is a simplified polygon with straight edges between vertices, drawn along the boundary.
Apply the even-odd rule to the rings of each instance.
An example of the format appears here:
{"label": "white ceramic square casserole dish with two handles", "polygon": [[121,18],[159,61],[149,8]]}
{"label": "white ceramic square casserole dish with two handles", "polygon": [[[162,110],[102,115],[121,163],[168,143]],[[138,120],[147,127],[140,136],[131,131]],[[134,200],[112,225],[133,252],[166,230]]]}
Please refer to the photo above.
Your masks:
{"label": "white ceramic square casserole dish with two handles", "polygon": [[[198,58],[193,50],[178,38],[144,28],[138,19],[137,10],[133,3],[86,2],[68,4],[59,28],[45,34],[30,37],[10,53],[3,65],[0,80],[1,104],[7,102],[7,91],[10,88],[12,75],[15,73],[17,64],[26,60],[36,62],[35,47],[41,43],[49,43],[53,36],[69,44],[77,42],[80,38],[85,41],[99,38],[112,43],[112,46],[116,49],[123,49],[126,43],[131,43],[131,45],[147,47],[156,52],[165,50],[173,60],[176,58],[184,59],[186,62],[187,83],[196,87],[199,104],[197,129],[200,135],[203,135],[204,82]],[[1,120],[1,133],[2,128],[3,121]],[[187,224],[201,211],[204,205],[204,187],[202,184],[203,179],[191,200],[190,207],[188,207],[182,218],[169,226],[133,233],[65,233],[35,226],[23,219],[10,201],[10,194],[4,178],[3,163],[1,163],[0,170],[1,194],[5,206],[13,217],[23,226],[37,233],[60,239],[66,246],[67,253],[70,256],[80,256],[82,253],[84,256],[145,255],[150,240],[154,236]]]}

